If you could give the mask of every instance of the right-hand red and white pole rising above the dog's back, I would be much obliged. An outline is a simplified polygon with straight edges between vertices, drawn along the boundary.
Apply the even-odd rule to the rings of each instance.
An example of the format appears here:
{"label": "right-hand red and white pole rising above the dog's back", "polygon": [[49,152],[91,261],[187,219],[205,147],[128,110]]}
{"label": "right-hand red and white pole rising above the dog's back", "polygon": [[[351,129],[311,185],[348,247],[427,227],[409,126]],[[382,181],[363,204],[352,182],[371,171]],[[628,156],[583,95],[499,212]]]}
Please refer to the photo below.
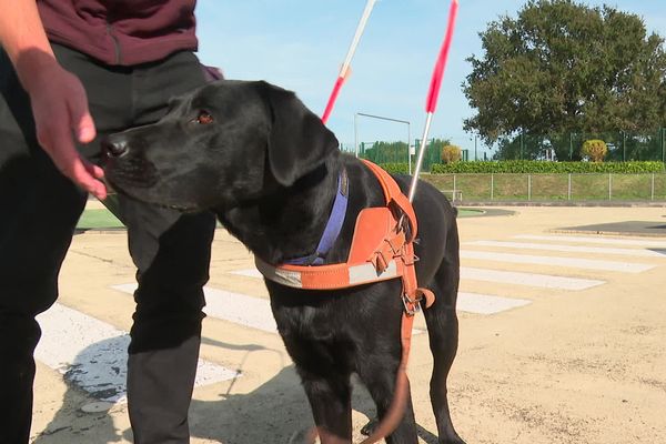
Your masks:
{"label": "right-hand red and white pole rising above the dog's back", "polygon": [[458,0],[452,0],[451,9],[448,11],[448,24],[446,27],[446,34],[444,42],[440,49],[440,56],[433,71],[431,79],[431,85],[427,93],[427,101],[425,103],[426,119],[425,129],[423,130],[423,138],[421,139],[421,148],[418,149],[418,157],[416,159],[416,165],[414,167],[414,176],[412,178],[412,184],[410,186],[410,202],[414,201],[414,194],[416,193],[416,185],[418,183],[418,173],[421,165],[423,164],[423,154],[425,153],[425,144],[427,143],[427,134],[430,127],[433,121],[433,114],[437,108],[437,97],[440,95],[440,87],[442,85],[442,78],[444,77],[444,68],[446,67],[446,59],[448,59],[448,49],[451,48],[451,41],[453,39],[453,30],[455,28],[455,19],[457,16]]}

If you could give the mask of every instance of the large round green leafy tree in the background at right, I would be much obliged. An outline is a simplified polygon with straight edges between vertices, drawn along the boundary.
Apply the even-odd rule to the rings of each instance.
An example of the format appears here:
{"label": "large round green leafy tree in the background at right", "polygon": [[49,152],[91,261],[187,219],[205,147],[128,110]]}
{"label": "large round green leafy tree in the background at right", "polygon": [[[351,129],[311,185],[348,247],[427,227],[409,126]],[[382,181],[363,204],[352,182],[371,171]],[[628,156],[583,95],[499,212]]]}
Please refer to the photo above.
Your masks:
{"label": "large round green leafy tree in the background at right", "polygon": [[565,133],[648,133],[666,122],[664,40],[647,36],[635,14],[529,0],[516,19],[501,17],[480,37],[485,54],[467,59],[463,84],[476,109],[465,129],[486,143],[557,134],[552,144],[564,160]]}

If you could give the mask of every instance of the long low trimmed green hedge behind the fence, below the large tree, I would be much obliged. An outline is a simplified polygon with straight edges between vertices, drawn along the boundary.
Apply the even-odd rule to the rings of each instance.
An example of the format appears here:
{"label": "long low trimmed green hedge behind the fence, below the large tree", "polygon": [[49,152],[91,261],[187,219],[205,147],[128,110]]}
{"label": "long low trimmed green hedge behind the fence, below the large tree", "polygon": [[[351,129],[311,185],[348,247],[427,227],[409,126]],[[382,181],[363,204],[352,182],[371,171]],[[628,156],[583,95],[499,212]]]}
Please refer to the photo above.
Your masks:
{"label": "long low trimmed green hedge behind the fence, below the large tree", "polygon": [[[393,165],[393,164],[392,164]],[[406,165],[406,164],[405,164]],[[405,170],[406,171],[406,170]],[[433,174],[463,173],[663,173],[663,162],[544,162],[528,160],[507,160],[502,162],[456,162],[435,163]]]}

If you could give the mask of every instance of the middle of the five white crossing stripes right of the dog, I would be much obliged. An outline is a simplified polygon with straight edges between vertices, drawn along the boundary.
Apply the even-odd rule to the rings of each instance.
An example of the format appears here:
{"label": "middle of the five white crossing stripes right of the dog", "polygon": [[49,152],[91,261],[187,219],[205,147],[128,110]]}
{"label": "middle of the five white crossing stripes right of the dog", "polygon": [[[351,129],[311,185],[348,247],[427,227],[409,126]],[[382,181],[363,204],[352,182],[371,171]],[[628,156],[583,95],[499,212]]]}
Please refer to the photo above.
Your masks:
{"label": "middle of the five white crossing stripes right of the dog", "polygon": [[624,273],[642,273],[655,268],[655,265],[649,264],[601,261],[596,259],[536,256],[528,254],[495,253],[490,251],[471,250],[461,250],[461,258],[536,265],[572,266],[576,269],[617,271]]}

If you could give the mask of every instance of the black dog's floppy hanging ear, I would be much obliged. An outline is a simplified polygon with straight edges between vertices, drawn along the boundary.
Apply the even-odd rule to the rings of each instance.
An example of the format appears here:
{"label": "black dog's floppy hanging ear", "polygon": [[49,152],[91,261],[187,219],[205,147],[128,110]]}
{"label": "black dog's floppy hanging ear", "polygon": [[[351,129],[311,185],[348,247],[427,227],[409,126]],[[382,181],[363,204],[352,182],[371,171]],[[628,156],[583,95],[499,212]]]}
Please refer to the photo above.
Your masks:
{"label": "black dog's floppy hanging ear", "polygon": [[339,142],[296,94],[266,82],[261,89],[271,111],[269,164],[278,182],[289,186],[321,165]]}

